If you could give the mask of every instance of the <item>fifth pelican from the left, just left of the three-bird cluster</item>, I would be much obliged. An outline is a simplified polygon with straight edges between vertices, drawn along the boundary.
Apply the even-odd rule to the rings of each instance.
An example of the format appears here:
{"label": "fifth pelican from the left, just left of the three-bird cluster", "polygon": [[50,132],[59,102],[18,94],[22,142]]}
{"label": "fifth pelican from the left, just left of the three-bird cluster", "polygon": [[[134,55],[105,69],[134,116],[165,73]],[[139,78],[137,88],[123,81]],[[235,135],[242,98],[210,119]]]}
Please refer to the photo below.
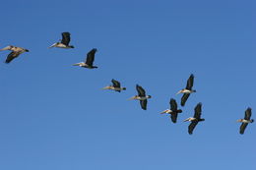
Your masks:
{"label": "fifth pelican from the left, just left of the three-bird cluster", "polygon": [[147,110],[147,103],[148,103],[148,98],[151,98],[151,95],[146,95],[145,89],[140,86],[140,85],[136,85],[136,89],[138,91],[138,95],[135,95],[129,99],[131,100],[140,100],[140,104],[143,110]]}

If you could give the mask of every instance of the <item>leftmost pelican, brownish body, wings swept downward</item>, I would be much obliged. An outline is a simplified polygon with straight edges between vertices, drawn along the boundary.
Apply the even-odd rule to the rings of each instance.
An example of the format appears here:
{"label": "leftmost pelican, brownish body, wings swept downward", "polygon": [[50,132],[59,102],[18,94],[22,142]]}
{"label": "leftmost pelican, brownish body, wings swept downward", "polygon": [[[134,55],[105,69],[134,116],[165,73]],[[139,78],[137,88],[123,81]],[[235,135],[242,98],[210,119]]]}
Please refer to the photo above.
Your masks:
{"label": "leftmost pelican, brownish body, wings swept downward", "polygon": [[22,47],[17,47],[17,46],[13,46],[13,45],[9,45],[7,47],[4,47],[2,49],[0,49],[0,51],[4,51],[4,50],[10,50],[12,51],[10,54],[8,54],[5,63],[10,63],[13,59],[19,57],[20,54],[24,53],[24,52],[29,52],[28,49],[22,48]]}

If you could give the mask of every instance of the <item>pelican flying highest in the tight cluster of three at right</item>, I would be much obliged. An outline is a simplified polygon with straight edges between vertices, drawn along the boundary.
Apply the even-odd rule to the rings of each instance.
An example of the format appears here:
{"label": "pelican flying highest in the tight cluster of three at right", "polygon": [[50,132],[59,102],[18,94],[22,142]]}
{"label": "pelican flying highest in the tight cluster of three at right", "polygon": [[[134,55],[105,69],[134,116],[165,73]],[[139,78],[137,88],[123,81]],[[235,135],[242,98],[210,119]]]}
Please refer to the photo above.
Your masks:
{"label": "pelican flying highest in the tight cluster of three at right", "polygon": [[181,97],[181,106],[185,105],[190,93],[196,92],[195,89],[192,89],[193,84],[194,84],[194,75],[191,74],[189,79],[187,80],[186,88],[183,88],[176,93],[176,94],[183,93],[183,96]]}

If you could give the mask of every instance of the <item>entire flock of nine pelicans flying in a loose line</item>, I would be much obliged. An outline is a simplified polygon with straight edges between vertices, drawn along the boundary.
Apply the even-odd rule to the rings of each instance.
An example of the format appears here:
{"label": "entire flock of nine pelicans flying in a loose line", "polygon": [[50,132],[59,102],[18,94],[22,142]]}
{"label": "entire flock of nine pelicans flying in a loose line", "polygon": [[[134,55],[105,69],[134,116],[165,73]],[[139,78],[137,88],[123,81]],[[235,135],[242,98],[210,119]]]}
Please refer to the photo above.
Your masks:
{"label": "entire flock of nine pelicans flying in a loose line", "polygon": [[[52,47],[66,48],[66,49],[75,48],[73,45],[69,45],[69,43],[70,43],[70,32],[62,32],[62,39],[59,42],[53,43],[48,48],[52,48]],[[8,56],[5,60],[6,64],[11,63],[15,58],[19,57],[22,53],[29,52],[29,50],[26,48],[17,47],[17,46],[13,46],[13,45],[9,45],[9,46],[6,46],[6,47],[0,49],[0,51],[4,51],[4,50],[11,51],[11,53],[8,54]],[[87,68],[87,69],[96,69],[97,66],[94,66],[96,51],[97,51],[96,48],[93,48],[91,51],[89,51],[87,53],[87,57],[84,62],[73,64],[73,66],[79,66],[79,67]],[[121,84],[114,79],[111,80],[111,83],[112,83],[112,85],[105,86],[102,89],[110,89],[110,90],[114,90],[117,92],[126,90],[126,87],[121,86]],[[183,95],[181,97],[181,101],[180,101],[180,105],[182,107],[185,106],[185,103],[186,103],[187,99],[189,98],[190,94],[196,92],[195,89],[192,89],[193,84],[194,84],[194,75],[191,74],[187,80],[186,87],[180,89],[176,93],[176,94],[183,93]],[[152,98],[152,96],[147,95],[145,89],[141,85],[136,85],[136,90],[138,92],[138,95],[132,96],[131,98],[129,98],[129,100],[139,100],[141,108],[143,110],[147,110],[148,99]],[[176,123],[178,114],[182,113],[182,110],[178,109],[177,102],[174,98],[170,98],[169,105],[170,105],[170,108],[160,112],[160,114],[164,114],[164,113],[169,114],[171,121],[173,123]],[[252,114],[251,110],[252,109],[250,107],[248,107],[245,110],[244,118],[237,120],[237,122],[242,123],[240,126],[240,129],[239,129],[239,133],[241,135],[244,134],[244,131],[245,131],[247,125],[254,122],[254,120],[251,119],[251,114]],[[189,117],[186,120],[184,120],[184,122],[187,122],[187,121],[190,122],[190,125],[188,126],[188,134],[189,135],[193,134],[193,131],[199,122],[205,121],[205,119],[201,118],[201,114],[202,114],[202,103],[199,102],[194,108],[194,116]]]}

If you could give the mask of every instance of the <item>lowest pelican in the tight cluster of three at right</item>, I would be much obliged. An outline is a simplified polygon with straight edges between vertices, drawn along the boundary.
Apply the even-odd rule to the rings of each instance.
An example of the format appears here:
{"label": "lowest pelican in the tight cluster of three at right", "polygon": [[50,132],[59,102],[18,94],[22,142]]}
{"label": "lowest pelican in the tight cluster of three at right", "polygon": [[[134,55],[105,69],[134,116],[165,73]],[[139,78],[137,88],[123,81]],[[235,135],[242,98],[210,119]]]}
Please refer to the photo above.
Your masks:
{"label": "lowest pelican in the tight cluster of three at right", "polygon": [[188,126],[188,134],[192,135],[195,127],[197,126],[198,122],[205,121],[205,119],[201,118],[201,113],[202,113],[202,103],[198,103],[195,107],[195,114],[194,117],[187,118],[184,120],[190,121],[190,125]]}

